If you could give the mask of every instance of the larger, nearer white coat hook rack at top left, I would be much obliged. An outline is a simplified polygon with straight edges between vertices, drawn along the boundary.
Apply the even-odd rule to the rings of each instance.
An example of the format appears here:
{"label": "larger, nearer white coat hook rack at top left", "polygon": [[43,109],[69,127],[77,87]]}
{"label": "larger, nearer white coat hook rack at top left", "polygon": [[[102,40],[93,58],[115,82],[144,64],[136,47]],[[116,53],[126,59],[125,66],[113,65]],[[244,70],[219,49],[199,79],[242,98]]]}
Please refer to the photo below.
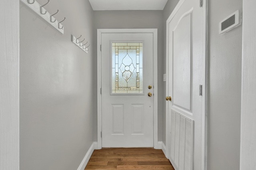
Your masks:
{"label": "larger, nearer white coat hook rack at top left", "polygon": [[[26,6],[28,6],[28,8],[30,8],[36,14],[38,14],[40,17],[42,17],[46,22],[48,22],[56,30],[58,30],[60,33],[64,34],[64,26],[62,26],[62,24],[60,24],[60,22],[58,22],[53,17],[55,14],[57,14],[59,12],[59,10],[57,10],[57,12],[55,14],[51,15],[49,12],[47,12],[43,8],[50,2],[50,0],[48,0],[48,2],[46,2],[44,5],[40,5],[38,2],[36,2],[36,0],[20,0],[20,1],[23,2]],[[61,21],[61,22],[63,22],[63,21]]]}

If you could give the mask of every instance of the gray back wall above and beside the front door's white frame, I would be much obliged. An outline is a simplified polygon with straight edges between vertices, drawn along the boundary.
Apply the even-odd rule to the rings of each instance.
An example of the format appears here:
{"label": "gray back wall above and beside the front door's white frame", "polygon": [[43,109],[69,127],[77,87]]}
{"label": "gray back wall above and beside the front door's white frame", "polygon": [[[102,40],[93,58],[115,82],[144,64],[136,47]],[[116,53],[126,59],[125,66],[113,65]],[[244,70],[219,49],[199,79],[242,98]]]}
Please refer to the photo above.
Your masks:
{"label": "gray back wall above and beside the front door's white frame", "polygon": [[[162,10],[94,11],[94,37],[97,29],[104,28],[158,28],[158,141],[162,141],[163,110],[163,12]],[[96,51],[96,42],[94,43]],[[96,65],[96,57],[94,60]],[[97,72],[97,68],[94,69]],[[96,75],[95,75],[96,76]],[[96,87],[94,87],[96,91]],[[94,101],[95,103],[96,101]],[[97,106],[94,105],[94,109]],[[97,115],[96,115],[97,116]],[[97,140],[97,117],[94,116],[94,140]]]}

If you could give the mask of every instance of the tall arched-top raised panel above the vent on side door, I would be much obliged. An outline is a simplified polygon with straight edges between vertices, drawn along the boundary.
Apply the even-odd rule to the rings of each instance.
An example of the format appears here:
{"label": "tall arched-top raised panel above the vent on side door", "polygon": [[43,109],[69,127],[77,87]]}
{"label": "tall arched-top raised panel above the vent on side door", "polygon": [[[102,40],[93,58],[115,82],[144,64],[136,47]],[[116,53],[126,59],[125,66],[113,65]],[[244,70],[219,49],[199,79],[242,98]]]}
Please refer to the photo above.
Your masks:
{"label": "tall arched-top raised panel above the vent on side door", "polygon": [[173,103],[190,110],[191,14],[183,16],[173,30]]}

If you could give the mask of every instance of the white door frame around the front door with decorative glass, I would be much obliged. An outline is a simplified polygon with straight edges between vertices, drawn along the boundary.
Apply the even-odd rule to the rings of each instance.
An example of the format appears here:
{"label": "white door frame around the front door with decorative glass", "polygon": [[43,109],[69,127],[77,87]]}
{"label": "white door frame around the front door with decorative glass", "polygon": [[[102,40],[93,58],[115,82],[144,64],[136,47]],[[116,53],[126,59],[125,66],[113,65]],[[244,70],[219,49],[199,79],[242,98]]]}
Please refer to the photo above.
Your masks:
{"label": "white door frame around the front door with decorative glass", "polygon": [[154,148],[158,149],[158,76],[157,76],[157,29],[97,29],[97,144],[95,149],[102,148],[102,100],[101,100],[101,35],[104,33],[152,33],[153,34],[153,143]]}

